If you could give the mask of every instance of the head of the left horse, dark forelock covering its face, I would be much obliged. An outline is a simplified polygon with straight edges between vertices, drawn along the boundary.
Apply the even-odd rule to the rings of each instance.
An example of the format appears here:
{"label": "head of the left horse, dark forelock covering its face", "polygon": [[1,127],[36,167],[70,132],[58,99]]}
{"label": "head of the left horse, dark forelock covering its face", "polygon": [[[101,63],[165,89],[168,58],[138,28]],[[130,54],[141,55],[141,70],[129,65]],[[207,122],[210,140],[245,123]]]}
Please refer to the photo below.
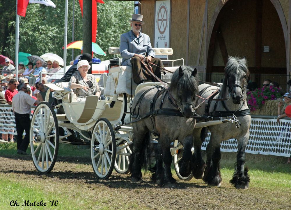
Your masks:
{"label": "head of the left horse, dark forelock covering its face", "polygon": [[189,118],[194,112],[195,96],[198,91],[197,69],[180,66],[171,79],[170,91],[174,100],[180,106],[183,116]]}

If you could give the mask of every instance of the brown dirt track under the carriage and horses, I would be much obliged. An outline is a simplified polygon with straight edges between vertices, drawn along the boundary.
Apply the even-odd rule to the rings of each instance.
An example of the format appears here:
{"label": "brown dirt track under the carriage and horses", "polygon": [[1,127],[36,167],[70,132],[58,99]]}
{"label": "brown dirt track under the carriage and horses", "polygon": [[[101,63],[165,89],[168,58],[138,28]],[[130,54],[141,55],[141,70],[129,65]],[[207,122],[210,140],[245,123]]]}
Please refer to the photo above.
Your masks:
{"label": "brown dirt track under the carriage and horses", "polygon": [[225,179],[222,187],[210,187],[202,180],[184,182],[176,176],[176,187],[167,188],[152,183],[148,173],[143,182],[132,183],[128,174],[114,170],[108,180],[99,180],[90,162],[84,157],[58,157],[54,169],[49,174],[41,174],[33,166],[31,156],[5,156],[0,157],[0,178],[17,175],[20,179],[29,177],[47,185],[71,185],[74,196],[81,187],[84,198],[105,199],[103,207],[93,207],[97,209],[290,209],[290,192],[274,192],[252,184],[248,190],[238,190]]}

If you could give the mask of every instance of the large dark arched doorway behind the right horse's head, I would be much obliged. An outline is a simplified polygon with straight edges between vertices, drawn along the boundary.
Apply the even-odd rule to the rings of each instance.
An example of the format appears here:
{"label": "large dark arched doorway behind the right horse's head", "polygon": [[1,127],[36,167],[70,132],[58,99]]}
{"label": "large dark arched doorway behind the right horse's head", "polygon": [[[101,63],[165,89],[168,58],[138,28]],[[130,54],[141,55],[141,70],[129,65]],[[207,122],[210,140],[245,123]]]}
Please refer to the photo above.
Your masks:
{"label": "large dark arched doorway behind the right horse's head", "polygon": [[265,78],[286,84],[288,29],[278,0],[228,0],[217,6],[209,29],[207,80],[220,81],[231,55],[247,57],[259,86]]}

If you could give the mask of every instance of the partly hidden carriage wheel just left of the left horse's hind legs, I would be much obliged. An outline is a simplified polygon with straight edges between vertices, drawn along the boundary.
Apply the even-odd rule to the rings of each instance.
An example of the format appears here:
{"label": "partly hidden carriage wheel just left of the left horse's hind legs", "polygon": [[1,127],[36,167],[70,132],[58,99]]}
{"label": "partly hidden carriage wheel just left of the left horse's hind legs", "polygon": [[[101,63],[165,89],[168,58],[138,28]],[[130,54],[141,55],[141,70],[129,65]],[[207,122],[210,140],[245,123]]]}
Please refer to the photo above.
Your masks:
{"label": "partly hidden carriage wheel just left of the left horse's hind legs", "polygon": [[128,132],[116,133],[116,159],[114,169],[117,173],[129,173],[129,155],[132,153],[132,138]]}

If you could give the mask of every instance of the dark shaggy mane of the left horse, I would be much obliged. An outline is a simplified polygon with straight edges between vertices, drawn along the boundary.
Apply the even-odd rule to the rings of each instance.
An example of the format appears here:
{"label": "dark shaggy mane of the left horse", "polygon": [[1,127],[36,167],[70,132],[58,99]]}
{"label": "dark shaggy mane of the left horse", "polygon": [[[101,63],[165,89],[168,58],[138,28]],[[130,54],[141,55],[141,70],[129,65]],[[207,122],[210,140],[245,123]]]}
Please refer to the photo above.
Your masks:
{"label": "dark shaggy mane of the left horse", "polygon": [[198,75],[194,77],[192,75],[194,69],[189,66],[181,66],[181,68],[183,70],[182,76],[179,75],[179,69],[173,74],[170,85],[171,90],[176,93],[177,91],[175,90],[179,88],[183,90],[184,94],[192,94],[193,96],[198,94]]}

